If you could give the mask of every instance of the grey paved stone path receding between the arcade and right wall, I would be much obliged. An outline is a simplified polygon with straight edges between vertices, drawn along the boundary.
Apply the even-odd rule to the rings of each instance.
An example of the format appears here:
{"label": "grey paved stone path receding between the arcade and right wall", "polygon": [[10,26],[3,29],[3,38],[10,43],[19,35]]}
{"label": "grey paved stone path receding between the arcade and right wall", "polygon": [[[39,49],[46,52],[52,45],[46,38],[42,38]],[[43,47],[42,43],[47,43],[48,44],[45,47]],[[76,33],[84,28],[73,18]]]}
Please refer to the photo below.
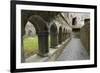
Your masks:
{"label": "grey paved stone path receding between the arcade and right wall", "polygon": [[89,59],[89,56],[87,54],[87,51],[81,44],[80,39],[73,37],[63,50],[62,54],[58,57],[57,61],[86,59]]}

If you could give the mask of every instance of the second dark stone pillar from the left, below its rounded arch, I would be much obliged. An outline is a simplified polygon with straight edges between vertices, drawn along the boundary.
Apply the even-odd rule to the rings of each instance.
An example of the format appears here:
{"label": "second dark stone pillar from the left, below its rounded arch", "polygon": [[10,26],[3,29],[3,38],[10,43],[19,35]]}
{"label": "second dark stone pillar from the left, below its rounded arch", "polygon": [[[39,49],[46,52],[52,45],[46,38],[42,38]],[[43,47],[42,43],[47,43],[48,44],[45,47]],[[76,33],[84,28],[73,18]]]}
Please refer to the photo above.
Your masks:
{"label": "second dark stone pillar from the left, below its rounded arch", "polygon": [[50,33],[50,47],[51,48],[55,48],[58,45],[58,38],[57,38],[58,34],[57,33]]}

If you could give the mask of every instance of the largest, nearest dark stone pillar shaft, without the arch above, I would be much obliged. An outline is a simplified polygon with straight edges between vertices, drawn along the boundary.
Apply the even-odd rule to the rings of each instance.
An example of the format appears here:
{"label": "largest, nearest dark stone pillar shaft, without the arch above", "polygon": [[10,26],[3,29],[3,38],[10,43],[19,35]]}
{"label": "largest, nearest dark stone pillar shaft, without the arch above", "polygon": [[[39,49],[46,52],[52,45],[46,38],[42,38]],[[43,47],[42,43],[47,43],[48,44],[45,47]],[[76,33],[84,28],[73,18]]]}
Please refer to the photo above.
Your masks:
{"label": "largest, nearest dark stone pillar shaft, without the arch above", "polygon": [[38,55],[45,57],[48,55],[48,32],[38,32]]}

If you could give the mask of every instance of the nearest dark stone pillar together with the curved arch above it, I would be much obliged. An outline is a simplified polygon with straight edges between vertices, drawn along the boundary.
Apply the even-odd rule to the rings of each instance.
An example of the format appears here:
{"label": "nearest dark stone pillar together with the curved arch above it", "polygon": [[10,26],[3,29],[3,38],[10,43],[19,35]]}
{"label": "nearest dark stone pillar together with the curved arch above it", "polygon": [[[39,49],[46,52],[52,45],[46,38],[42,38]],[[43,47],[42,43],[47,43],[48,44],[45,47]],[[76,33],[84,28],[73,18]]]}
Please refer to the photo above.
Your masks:
{"label": "nearest dark stone pillar together with the curved arch above it", "polygon": [[28,18],[35,29],[38,36],[38,55],[48,55],[48,27],[45,20],[39,15],[32,15]]}

